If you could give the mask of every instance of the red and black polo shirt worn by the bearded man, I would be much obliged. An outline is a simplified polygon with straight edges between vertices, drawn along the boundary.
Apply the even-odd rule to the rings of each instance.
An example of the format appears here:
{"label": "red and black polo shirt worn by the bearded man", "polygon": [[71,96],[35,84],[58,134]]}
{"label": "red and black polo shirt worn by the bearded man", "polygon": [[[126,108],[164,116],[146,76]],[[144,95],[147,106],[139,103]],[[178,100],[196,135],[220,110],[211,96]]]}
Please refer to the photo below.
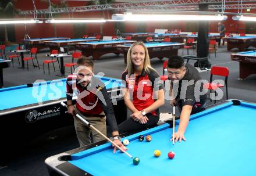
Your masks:
{"label": "red and black polo shirt worn by the bearded man", "polygon": [[87,87],[81,87],[76,75],[70,74],[66,83],[67,100],[72,100],[73,93],[76,94],[76,107],[81,113],[85,116],[97,116],[104,112],[111,130],[118,131],[111,99],[105,84],[99,78],[93,76]]}

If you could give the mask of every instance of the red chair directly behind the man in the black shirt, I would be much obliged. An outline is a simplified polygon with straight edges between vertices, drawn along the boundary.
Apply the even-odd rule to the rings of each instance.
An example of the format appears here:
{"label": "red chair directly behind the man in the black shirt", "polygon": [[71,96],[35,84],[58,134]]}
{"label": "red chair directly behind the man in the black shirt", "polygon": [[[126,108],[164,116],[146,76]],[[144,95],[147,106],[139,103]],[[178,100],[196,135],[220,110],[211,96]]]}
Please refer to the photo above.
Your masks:
{"label": "red chair directly behind the man in the black shirt", "polygon": [[[225,77],[224,85],[212,82],[212,77],[214,75]],[[212,69],[211,69],[210,83],[204,84],[204,88],[210,90],[210,93],[212,91],[214,91],[215,97],[216,97],[216,89],[226,87],[226,99],[228,99],[228,96],[227,96],[227,77],[229,77],[229,68],[221,67],[221,66],[213,66]],[[212,99],[211,99],[211,101],[212,101]],[[216,99],[214,100],[214,103],[216,103]]]}

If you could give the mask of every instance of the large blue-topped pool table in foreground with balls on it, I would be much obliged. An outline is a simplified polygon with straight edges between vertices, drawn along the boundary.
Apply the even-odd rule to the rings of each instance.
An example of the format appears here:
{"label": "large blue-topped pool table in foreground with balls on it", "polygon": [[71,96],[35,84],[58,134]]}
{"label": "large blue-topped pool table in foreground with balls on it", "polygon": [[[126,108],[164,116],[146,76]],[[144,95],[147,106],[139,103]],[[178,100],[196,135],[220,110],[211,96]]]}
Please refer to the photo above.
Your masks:
{"label": "large blue-topped pool table in foreground with balls on it", "polygon": [[[256,104],[228,100],[190,117],[186,142],[172,144],[172,125],[159,125],[129,135],[130,155],[112,152],[111,143],[60,153],[45,160],[49,175],[255,175]],[[176,120],[176,129],[179,120]],[[138,141],[151,135],[152,141]],[[154,150],[161,156],[154,157]],[[173,159],[168,152],[175,153]]]}

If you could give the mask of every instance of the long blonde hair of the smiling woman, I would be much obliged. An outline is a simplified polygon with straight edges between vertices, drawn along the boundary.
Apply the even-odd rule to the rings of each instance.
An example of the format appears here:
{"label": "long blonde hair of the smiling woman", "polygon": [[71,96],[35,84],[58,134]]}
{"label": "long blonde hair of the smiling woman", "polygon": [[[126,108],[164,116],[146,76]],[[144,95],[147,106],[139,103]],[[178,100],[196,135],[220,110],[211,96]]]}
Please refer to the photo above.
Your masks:
{"label": "long blonde hair of the smiling woman", "polygon": [[150,73],[150,70],[155,70],[153,67],[151,67],[151,64],[150,64],[150,56],[148,55],[148,49],[147,47],[145,46],[145,44],[141,41],[138,41],[138,42],[134,42],[130,48],[129,48],[129,51],[127,52],[127,66],[126,66],[126,69],[125,71],[127,71],[128,75],[131,75],[131,74],[134,74],[134,67],[133,67],[133,63],[131,62],[131,49],[133,49],[134,46],[137,46],[137,45],[140,45],[140,46],[143,46],[144,50],[145,50],[145,59],[144,59],[144,66],[143,66],[143,69],[145,72],[147,73]]}

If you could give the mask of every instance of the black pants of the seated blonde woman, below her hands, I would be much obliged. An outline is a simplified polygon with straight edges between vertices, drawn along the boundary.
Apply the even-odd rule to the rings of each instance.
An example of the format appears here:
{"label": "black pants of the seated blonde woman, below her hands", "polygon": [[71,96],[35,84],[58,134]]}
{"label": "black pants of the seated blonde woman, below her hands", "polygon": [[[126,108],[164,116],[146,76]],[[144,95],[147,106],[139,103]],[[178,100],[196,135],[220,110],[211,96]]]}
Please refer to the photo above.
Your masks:
{"label": "black pants of the seated blonde woman, below her hands", "polygon": [[126,121],[123,121],[118,125],[119,133],[123,134],[125,132],[136,132],[140,130],[142,131],[157,125],[159,121],[159,116],[154,116],[152,114],[147,114],[146,116],[148,117],[148,123],[146,124],[141,124],[138,121],[134,121],[132,118],[129,117]]}

